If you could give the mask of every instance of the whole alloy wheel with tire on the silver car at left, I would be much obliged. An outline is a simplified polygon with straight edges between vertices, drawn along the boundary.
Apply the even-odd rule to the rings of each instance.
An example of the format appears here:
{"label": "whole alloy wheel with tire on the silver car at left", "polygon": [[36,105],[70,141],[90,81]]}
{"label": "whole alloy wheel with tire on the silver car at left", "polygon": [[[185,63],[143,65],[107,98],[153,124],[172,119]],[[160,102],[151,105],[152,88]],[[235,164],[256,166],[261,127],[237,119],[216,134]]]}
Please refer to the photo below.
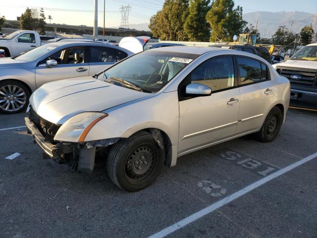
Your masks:
{"label": "whole alloy wheel with tire on the silver car at left", "polygon": [[0,81],[0,112],[19,113],[26,109],[30,92],[25,85],[15,80]]}

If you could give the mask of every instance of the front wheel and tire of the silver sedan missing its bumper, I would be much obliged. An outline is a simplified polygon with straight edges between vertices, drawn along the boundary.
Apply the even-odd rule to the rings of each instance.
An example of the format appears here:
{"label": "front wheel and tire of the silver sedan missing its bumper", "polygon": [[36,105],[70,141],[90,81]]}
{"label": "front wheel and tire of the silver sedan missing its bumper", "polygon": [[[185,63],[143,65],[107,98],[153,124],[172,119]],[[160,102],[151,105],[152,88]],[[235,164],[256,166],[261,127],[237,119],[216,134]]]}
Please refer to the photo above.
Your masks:
{"label": "front wheel and tire of the silver sedan missing its bumper", "polygon": [[108,155],[107,172],[119,188],[136,192],[154,182],[163,164],[164,150],[149,132],[141,131],[113,145]]}

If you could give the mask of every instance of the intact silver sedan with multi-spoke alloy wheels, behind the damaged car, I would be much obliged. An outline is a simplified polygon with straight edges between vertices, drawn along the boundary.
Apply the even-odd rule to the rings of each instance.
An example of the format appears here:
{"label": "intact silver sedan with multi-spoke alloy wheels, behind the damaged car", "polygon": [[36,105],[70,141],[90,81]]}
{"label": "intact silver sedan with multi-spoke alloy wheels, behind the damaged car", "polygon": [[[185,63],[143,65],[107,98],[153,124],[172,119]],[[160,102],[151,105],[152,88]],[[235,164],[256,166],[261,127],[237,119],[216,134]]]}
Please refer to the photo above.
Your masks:
{"label": "intact silver sedan with multi-spoke alloy wheels, behind the damaged car", "polygon": [[21,112],[30,94],[47,82],[92,76],[131,55],[124,48],[93,41],[60,41],[0,58],[0,112]]}

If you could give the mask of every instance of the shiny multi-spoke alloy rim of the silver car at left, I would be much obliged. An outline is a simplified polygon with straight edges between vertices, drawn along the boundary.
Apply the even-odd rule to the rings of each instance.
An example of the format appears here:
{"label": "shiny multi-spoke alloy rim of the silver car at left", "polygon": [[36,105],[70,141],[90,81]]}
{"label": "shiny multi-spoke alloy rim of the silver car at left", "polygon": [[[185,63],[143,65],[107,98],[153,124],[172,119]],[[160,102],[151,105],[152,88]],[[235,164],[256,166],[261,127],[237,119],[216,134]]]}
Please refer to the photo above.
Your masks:
{"label": "shiny multi-spoke alloy rim of the silver car at left", "polygon": [[26,93],[17,85],[4,85],[0,88],[0,108],[7,112],[20,110],[26,104]]}

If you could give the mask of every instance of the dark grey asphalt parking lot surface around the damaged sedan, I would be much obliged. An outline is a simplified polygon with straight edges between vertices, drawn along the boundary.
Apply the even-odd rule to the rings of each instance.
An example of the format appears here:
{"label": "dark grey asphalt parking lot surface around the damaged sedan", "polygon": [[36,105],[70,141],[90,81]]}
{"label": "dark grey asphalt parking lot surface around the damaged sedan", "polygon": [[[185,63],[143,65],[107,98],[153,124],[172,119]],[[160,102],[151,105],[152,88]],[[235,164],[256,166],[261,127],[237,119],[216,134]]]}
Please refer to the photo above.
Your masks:
{"label": "dark grey asphalt parking lot surface around the damaged sedan", "polygon": [[[316,153],[317,112],[290,109],[272,143],[246,136],[183,156],[136,193],[119,190],[103,166],[92,175],[54,167],[24,127],[7,129],[23,126],[24,116],[0,114],[1,238],[162,237],[173,224],[167,237],[317,237],[317,155],[200,219],[190,217]],[[192,222],[177,225],[186,218]]]}

